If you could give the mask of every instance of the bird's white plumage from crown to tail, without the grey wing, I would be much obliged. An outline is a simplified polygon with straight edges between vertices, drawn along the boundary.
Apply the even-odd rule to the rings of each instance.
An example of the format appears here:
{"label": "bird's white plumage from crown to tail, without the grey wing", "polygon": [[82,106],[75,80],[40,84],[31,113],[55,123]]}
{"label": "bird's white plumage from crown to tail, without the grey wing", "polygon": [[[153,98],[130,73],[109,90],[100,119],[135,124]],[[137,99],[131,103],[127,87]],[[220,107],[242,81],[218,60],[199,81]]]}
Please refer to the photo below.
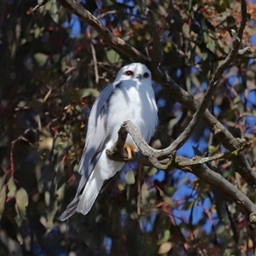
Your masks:
{"label": "bird's white plumage from crown to tail, without the grey wing", "polygon": [[[115,82],[121,80],[122,83],[116,89],[114,95],[111,96],[109,102],[108,125],[113,127],[112,137],[104,148],[95,170],[84,187],[77,209],[78,212],[83,214],[90,211],[104,181],[113,177],[124,166],[124,163],[109,160],[106,154],[106,148],[111,148],[118,138],[120,125],[130,120],[141,131],[147,142],[149,142],[154,133],[154,127],[157,122],[157,108],[151,79],[127,79],[124,74],[125,70],[131,70],[134,75],[139,73],[142,76],[144,73],[150,72],[146,66],[138,63],[134,64],[121,69],[117,79],[115,79]],[[126,143],[136,147],[130,135],[127,137]]]}

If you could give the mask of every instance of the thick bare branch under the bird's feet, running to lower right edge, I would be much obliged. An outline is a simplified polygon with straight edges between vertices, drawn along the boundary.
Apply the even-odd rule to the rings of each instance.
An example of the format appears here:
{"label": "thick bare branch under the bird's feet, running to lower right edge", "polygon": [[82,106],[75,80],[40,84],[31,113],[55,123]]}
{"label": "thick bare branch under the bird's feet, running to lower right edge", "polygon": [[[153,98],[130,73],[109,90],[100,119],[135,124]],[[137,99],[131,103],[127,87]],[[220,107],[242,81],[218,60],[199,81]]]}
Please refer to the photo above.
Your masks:
{"label": "thick bare branch under the bird's feet, running to lower right edge", "polygon": [[[244,195],[236,188],[236,186],[228,182],[219,173],[212,171],[205,164],[201,164],[200,161],[196,159],[191,160],[183,156],[177,156],[175,153],[172,155],[164,155],[163,150],[156,150],[148,146],[140,131],[138,131],[137,127],[133,125],[131,121],[126,121],[121,125],[117,142],[113,145],[113,148],[107,150],[107,154],[110,159],[127,161],[127,154],[125,150],[122,150],[122,148],[128,133],[131,135],[139,149],[132,160],[136,160],[145,166],[155,166],[157,168],[159,166],[166,166],[166,168],[161,168],[166,171],[178,168],[184,172],[194,173],[197,177],[200,177],[206,183],[212,185],[212,187],[223,192],[224,195],[227,195],[230,199],[235,201],[236,204],[241,207],[242,212],[247,215],[250,214],[250,217],[252,217],[254,212],[256,212],[256,206],[248,199],[247,195]],[[246,147],[246,145],[247,144],[245,144],[244,147]],[[230,159],[231,156],[236,158],[237,154],[237,151],[235,153],[230,152],[230,154],[228,154],[228,158]],[[160,160],[158,160],[158,157],[160,157]],[[224,155],[222,157],[224,158]],[[209,158],[209,160],[211,159]],[[253,222],[254,218],[250,218],[250,221]]]}

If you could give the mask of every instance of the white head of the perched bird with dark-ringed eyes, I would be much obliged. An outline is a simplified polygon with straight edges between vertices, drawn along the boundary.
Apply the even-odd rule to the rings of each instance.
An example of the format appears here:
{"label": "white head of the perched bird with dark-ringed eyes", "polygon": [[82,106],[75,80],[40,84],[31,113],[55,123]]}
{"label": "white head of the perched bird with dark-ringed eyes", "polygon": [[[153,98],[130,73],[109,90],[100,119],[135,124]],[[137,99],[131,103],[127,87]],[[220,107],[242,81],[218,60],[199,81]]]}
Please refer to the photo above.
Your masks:
{"label": "white head of the perched bird with dark-ringed eyes", "polygon": [[148,80],[151,82],[151,72],[142,63],[131,63],[119,70],[115,81],[120,80]]}

